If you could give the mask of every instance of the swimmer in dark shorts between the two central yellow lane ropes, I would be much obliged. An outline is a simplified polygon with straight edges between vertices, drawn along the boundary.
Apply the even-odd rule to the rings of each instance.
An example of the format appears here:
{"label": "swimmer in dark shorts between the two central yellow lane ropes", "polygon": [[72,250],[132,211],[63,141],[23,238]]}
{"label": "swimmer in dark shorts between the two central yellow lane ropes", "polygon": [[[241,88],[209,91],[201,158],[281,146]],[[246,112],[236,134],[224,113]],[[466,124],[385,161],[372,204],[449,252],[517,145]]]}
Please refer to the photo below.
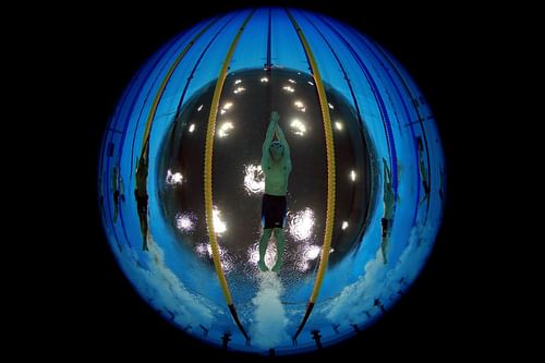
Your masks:
{"label": "swimmer in dark shorts between the two central yellow lane ropes", "polygon": [[263,233],[259,240],[259,261],[257,262],[262,271],[268,270],[265,265],[265,252],[270,235],[275,233],[277,243],[277,262],[272,267],[275,273],[278,273],[282,266],[286,242],[283,234],[287,213],[286,193],[291,172],[290,146],[278,124],[279,118],[277,112],[270,113],[270,122],[263,143],[262,169],[265,173],[265,194],[262,205]]}

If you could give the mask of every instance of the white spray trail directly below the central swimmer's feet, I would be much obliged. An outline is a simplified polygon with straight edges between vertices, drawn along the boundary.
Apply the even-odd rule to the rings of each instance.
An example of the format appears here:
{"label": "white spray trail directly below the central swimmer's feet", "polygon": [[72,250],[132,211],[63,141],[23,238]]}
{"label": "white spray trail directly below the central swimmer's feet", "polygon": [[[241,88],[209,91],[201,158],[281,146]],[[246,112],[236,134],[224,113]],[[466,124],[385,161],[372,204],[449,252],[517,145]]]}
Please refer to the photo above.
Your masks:
{"label": "white spray trail directly below the central swimmer's feet", "polygon": [[282,291],[277,274],[259,274],[259,290],[252,300],[255,311],[251,326],[252,344],[257,348],[271,349],[290,339],[286,331],[288,318],[280,301]]}

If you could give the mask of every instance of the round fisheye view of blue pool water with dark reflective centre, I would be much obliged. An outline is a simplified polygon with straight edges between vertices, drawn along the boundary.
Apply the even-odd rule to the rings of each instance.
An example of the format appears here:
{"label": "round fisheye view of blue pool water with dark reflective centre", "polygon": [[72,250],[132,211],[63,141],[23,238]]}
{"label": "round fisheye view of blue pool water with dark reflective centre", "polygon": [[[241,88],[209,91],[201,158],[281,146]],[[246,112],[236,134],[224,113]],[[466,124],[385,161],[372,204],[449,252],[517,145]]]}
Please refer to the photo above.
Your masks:
{"label": "round fisheye view of blue pool water with dark reflective centre", "polygon": [[[214,228],[250,343],[226,302],[205,220],[204,142],[218,80],[225,83],[211,159]],[[335,145],[336,208],[323,285],[294,343],[318,274],[327,215],[320,82]],[[261,153],[272,110],[293,164],[279,274],[256,266]],[[445,180],[432,110],[402,65],[346,24],[276,8],[206,20],[153,55],[105,130],[98,174],[108,241],[142,298],[205,342],[264,354],[342,341],[395,304],[432,251]],[[142,183],[148,199],[138,206],[134,191]],[[271,241],[269,267],[275,255]]]}

